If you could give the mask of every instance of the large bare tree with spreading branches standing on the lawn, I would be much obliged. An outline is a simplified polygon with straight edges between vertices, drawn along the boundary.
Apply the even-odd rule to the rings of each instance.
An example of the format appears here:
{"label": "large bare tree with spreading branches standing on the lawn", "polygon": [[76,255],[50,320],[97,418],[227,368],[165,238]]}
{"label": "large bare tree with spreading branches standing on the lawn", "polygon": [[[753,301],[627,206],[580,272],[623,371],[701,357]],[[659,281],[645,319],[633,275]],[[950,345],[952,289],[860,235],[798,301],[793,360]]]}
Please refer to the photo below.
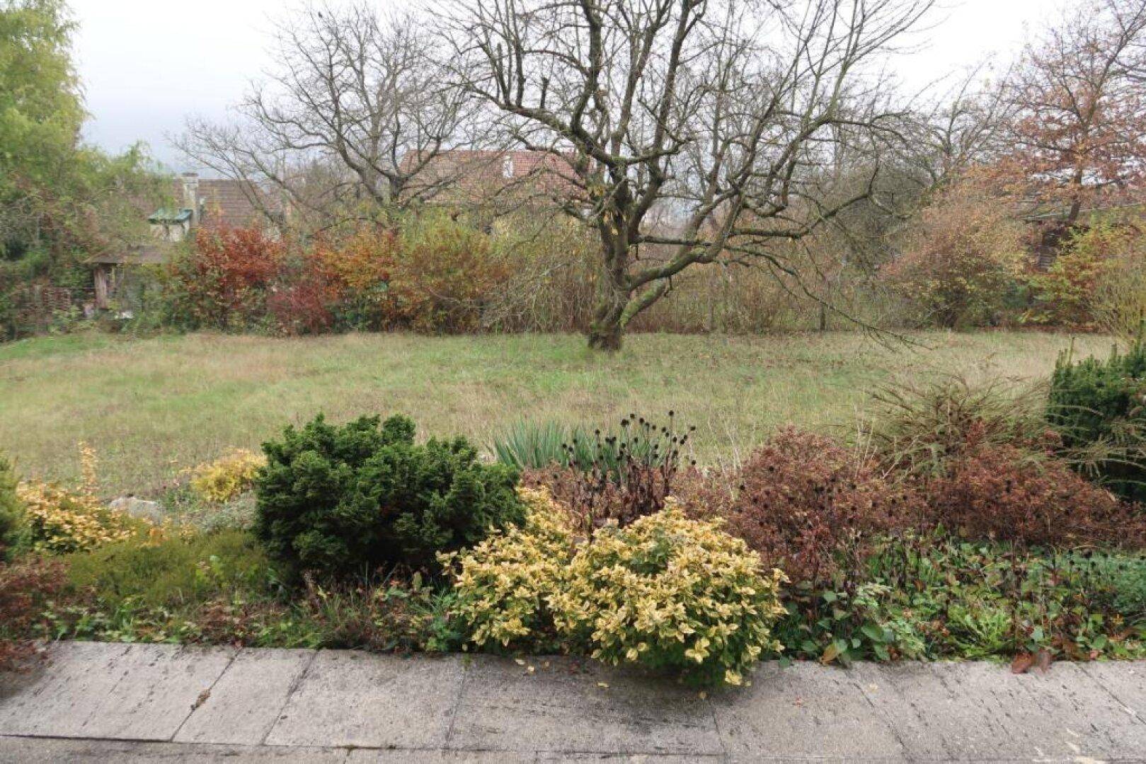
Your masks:
{"label": "large bare tree with spreading branches standing on the lawn", "polygon": [[[859,199],[830,191],[833,151],[872,176],[893,121],[865,74],[931,0],[481,0],[449,7],[454,72],[513,139],[570,157],[566,211],[596,227],[589,344],[693,263],[759,261]],[[829,200],[831,199],[831,200]],[[652,226],[666,211],[670,225]]]}

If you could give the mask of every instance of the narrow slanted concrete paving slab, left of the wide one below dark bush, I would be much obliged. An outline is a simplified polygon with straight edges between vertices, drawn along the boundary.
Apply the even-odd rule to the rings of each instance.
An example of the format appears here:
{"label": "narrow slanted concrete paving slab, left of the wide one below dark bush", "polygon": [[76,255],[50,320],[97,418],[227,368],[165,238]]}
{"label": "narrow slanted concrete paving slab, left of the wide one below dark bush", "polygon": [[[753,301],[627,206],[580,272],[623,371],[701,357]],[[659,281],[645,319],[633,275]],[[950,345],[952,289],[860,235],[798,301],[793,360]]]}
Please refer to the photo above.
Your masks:
{"label": "narrow slanted concrete paving slab, left of the wide one below dark bush", "polygon": [[261,743],[316,653],[244,649],[175,733],[178,742]]}

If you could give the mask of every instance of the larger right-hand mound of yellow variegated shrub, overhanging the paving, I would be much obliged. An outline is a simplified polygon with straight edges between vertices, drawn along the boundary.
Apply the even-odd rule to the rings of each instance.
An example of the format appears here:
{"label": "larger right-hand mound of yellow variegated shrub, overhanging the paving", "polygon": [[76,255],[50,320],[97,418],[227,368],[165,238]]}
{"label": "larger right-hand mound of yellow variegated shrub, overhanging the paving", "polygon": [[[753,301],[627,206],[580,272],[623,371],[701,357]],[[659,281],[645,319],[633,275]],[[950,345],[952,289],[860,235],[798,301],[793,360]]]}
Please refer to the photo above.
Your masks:
{"label": "larger right-hand mound of yellow variegated shrub, overhanging the paving", "polygon": [[597,529],[573,558],[567,586],[550,597],[559,631],[592,656],[673,670],[693,684],[739,685],[784,614],[784,574],[720,521],[685,517],[675,501],[620,528]]}

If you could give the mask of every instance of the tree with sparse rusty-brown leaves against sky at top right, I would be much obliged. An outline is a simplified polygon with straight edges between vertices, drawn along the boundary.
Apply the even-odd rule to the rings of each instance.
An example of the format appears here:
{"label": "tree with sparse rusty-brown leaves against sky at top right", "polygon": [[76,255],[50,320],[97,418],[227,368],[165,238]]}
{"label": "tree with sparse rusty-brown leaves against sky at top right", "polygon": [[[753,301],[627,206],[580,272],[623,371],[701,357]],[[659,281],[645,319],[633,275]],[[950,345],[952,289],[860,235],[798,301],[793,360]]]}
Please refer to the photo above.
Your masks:
{"label": "tree with sparse rusty-brown leaves against sky at top right", "polygon": [[1085,0],[1027,45],[1012,82],[1013,151],[1002,168],[1019,190],[1085,204],[1146,178],[1146,0]]}

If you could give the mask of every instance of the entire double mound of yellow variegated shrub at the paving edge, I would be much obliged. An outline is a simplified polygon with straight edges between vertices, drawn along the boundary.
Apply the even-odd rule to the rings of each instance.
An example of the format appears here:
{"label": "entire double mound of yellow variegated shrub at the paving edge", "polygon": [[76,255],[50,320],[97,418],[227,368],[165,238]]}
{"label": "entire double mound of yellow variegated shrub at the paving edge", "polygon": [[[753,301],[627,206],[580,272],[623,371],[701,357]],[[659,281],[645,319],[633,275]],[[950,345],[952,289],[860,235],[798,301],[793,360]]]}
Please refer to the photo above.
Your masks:
{"label": "entire double mound of yellow variegated shrub at the paving edge", "polygon": [[523,528],[460,558],[457,613],[478,645],[502,647],[559,635],[607,663],[674,669],[738,685],[762,652],[778,651],[784,574],[719,521],[689,519],[674,502],[626,528],[609,525],[575,544],[547,491],[520,490]]}

